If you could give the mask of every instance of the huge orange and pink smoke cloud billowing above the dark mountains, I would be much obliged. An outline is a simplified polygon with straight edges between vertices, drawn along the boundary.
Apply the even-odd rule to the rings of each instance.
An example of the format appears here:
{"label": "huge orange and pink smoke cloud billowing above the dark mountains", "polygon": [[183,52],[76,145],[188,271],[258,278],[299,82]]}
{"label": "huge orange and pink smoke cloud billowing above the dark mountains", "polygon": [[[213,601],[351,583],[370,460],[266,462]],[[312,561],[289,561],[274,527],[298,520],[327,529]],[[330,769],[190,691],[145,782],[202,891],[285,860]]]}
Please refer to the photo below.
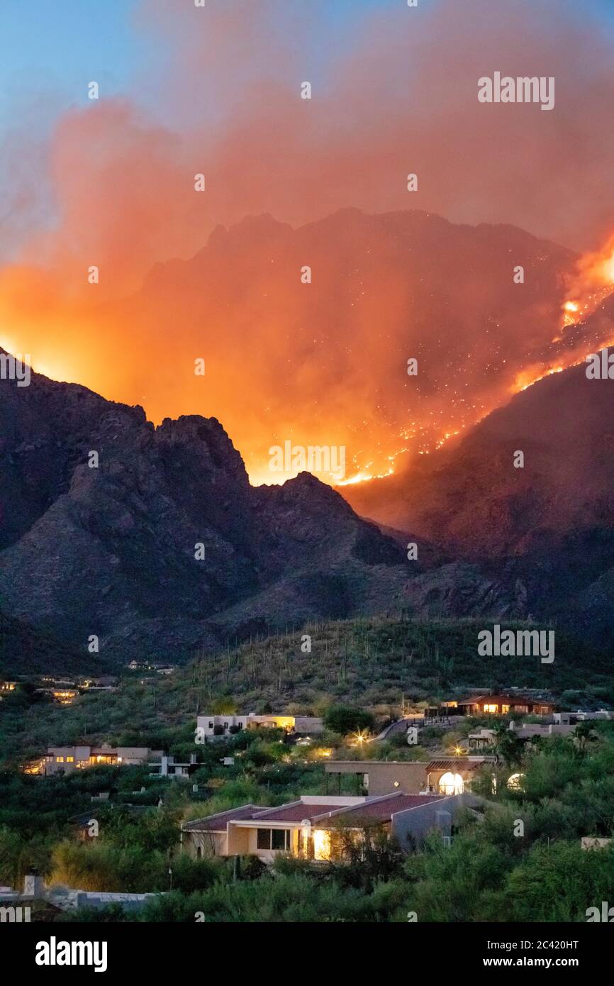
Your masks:
{"label": "huge orange and pink smoke cloud billowing above the dark mountains", "polygon": [[[614,226],[609,49],[535,7],[391,5],[326,59],[317,4],[147,0],[160,115],[137,94],[59,121],[56,221],[0,270],[0,345],[156,422],[216,416],[254,482],[287,478],[285,441],[346,448],[349,485],[451,441],[592,344],[560,330],[576,255],[500,225],[582,247]],[[480,105],[490,65],[556,76],[555,111]]]}

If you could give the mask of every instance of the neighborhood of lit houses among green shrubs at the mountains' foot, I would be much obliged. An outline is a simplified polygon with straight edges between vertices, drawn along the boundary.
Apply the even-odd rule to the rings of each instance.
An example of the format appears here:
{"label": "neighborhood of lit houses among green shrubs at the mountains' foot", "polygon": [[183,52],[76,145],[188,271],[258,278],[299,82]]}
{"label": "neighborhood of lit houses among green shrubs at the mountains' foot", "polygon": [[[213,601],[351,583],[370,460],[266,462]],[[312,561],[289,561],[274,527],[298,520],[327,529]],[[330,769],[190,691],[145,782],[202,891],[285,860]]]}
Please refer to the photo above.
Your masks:
{"label": "neighborhood of lit houses among green shrubs at the mountains' foot", "polygon": [[[241,897],[241,919],[270,906],[283,920],[284,906],[305,906],[309,920],[322,908],[354,920],[350,881],[368,921],[381,919],[376,901],[388,893],[385,920],[415,910],[427,922],[456,912],[507,921],[521,917],[523,899],[507,890],[507,874],[558,872],[563,853],[572,854],[563,869],[579,875],[566,886],[581,886],[587,867],[607,872],[614,711],[605,688],[593,696],[530,679],[480,687],[450,678],[422,693],[388,686],[387,701],[293,701],[259,686],[234,696],[224,672],[209,694],[207,666],[159,675],[154,664],[149,676],[4,675],[14,687],[0,692],[10,738],[0,846],[3,811],[9,826],[19,816],[30,831],[24,798],[52,819],[42,856],[11,835],[22,848],[0,874],[7,906],[31,907],[34,920],[111,908],[126,921],[168,920],[169,908],[193,920],[185,909],[196,893],[197,909],[219,920],[249,885],[258,912]],[[64,706],[55,691],[77,695]],[[579,789],[590,797],[575,797]],[[6,822],[4,831],[13,831]],[[465,857],[483,857],[477,889],[465,886]],[[33,873],[34,896],[23,889]],[[315,904],[325,887],[334,904]],[[571,920],[583,920],[591,905],[582,904],[570,897]],[[535,913],[550,906],[544,898]]]}

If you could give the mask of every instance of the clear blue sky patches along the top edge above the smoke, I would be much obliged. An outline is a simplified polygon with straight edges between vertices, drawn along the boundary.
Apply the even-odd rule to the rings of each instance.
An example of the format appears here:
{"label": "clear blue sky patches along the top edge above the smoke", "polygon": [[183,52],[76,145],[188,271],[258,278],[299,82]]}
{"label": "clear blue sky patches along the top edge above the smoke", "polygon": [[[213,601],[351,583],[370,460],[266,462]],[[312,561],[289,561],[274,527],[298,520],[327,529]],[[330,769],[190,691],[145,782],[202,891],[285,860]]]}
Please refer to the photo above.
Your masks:
{"label": "clear blue sky patches along the top edge above the smoke", "polygon": [[[190,0],[172,0],[188,3]],[[210,0],[211,3],[219,0]],[[259,0],[252,0],[254,4]],[[305,10],[306,0],[286,0]],[[462,0],[419,0],[425,7]],[[504,3],[505,0],[498,0]],[[536,0],[538,3],[539,0]],[[155,66],[163,41],[137,27],[135,12],[148,0],[2,0],[0,3],[0,135],[29,99],[45,95],[47,115],[74,105],[90,79],[107,94],[130,93],[132,81]],[[224,0],[232,4],[232,0]],[[324,56],[351,43],[361,16],[405,0],[308,0],[328,25]],[[614,36],[614,0],[557,0],[556,7],[596,18]]]}

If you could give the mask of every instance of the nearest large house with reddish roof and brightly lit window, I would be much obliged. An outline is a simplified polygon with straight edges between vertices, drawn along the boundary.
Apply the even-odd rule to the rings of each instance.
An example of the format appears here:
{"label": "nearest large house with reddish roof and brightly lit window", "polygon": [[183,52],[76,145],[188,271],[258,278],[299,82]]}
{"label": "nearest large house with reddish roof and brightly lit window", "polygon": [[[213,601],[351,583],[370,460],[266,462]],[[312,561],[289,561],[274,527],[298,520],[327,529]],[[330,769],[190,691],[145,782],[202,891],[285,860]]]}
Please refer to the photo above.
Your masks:
{"label": "nearest large house with reddish roof and brightly lit window", "polygon": [[343,855],[343,839],[364,838],[372,827],[398,839],[402,849],[421,842],[433,829],[451,835],[454,815],[473,807],[471,796],[405,795],[335,798],[304,796],[279,808],[243,805],[181,825],[181,850],[204,856],[259,857],[272,862],[280,853],[326,861]]}

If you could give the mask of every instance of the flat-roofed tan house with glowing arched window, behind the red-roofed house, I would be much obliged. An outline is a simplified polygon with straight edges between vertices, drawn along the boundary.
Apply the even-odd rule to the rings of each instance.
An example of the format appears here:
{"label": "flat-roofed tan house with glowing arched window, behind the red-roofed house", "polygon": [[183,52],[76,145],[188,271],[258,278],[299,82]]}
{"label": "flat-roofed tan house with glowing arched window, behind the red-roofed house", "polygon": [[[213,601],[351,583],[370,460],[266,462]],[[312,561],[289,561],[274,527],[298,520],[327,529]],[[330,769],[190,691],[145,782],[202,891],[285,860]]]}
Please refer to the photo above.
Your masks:
{"label": "flat-roofed tan house with glowing arched window, behind the red-roofed house", "polygon": [[[457,756],[438,760],[327,760],[326,789],[330,775],[337,777],[341,794],[343,774],[355,776],[357,794],[386,795],[461,794],[476,771],[494,762],[492,756]],[[334,782],[333,782],[334,783]]]}

